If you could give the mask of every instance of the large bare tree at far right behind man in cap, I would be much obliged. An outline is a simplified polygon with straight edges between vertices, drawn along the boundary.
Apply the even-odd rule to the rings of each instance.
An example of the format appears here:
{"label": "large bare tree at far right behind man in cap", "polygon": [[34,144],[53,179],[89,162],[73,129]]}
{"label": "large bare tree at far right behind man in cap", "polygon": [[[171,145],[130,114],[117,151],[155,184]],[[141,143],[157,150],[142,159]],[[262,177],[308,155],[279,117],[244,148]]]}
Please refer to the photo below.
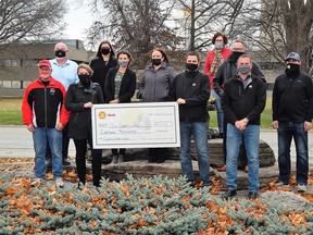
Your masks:
{"label": "large bare tree at far right behind man in cap", "polygon": [[250,47],[260,52],[266,62],[279,63],[287,53],[297,51],[305,70],[311,66],[312,54],[312,0],[255,0],[245,5],[240,18],[243,24],[234,25]]}

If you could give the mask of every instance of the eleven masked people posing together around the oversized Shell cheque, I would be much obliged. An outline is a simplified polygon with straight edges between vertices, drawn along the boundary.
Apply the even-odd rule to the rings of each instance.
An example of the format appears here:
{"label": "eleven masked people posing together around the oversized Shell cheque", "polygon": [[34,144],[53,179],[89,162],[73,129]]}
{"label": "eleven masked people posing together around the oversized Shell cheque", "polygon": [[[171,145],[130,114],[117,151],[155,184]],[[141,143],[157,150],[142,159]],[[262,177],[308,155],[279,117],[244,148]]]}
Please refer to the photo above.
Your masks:
{"label": "eleven masked people posing together around the oversized Shell cheque", "polygon": [[[249,198],[256,198],[259,183],[260,116],[265,108],[265,77],[260,66],[246,53],[245,42],[236,40],[227,48],[227,37],[216,33],[215,46],[206,54],[204,73],[199,71],[200,58],[189,52],[185,71],[175,75],[164,50],[151,51],[151,63],[143,70],[137,98],[142,102],[176,101],[179,107],[181,174],[193,184],[191,136],[198,156],[200,178],[211,187],[206,122],[206,103],[216,100],[220,136],[227,176],[227,199],[237,190],[237,158],[242,144],[249,177]],[[85,184],[87,144],[91,148],[93,185],[101,180],[101,149],[92,148],[91,107],[96,103],[127,103],[136,90],[136,73],[129,69],[132,55],[115,51],[110,41],[99,45],[90,64],[79,64],[67,58],[66,45],[54,47],[55,59],[39,62],[39,77],[26,88],[22,104],[23,122],[33,133],[35,146],[35,181],[45,180],[47,152],[51,152],[55,184],[63,187],[63,164],[67,164],[68,139],[76,148],[79,184]],[[278,129],[279,182],[289,183],[290,143],[297,148],[297,187],[308,185],[308,131],[313,116],[311,77],[300,71],[296,52],[286,58],[286,71],[275,81],[273,91],[273,127]],[[47,151],[47,149],[50,149]],[[124,162],[126,149],[112,149],[111,164]],[[166,148],[149,149],[149,163],[165,161]],[[63,164],[62,164],[63,163]]]}

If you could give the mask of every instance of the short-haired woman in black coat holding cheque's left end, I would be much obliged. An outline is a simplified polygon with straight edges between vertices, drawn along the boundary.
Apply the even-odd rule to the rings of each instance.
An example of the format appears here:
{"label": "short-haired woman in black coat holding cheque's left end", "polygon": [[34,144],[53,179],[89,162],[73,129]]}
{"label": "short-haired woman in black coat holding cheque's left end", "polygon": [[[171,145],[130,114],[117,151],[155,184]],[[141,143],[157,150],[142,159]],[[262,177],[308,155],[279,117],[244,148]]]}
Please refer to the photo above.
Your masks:
{"label": "short-haired woman in black coat holding cheque's left end", "polygon": [[91,148],[93,185],[100,186],[102,150],[92,148],[91,107],[93,103],[103,103],[103,95],[99,84],[92,83],[92,70],[87,64],[77,67],[78,84],[68,87],[65,107],[71,111],[68,137],[74,139],[76,148],[76,168],[79,182],[86,182],[86,151],[87,143]]}

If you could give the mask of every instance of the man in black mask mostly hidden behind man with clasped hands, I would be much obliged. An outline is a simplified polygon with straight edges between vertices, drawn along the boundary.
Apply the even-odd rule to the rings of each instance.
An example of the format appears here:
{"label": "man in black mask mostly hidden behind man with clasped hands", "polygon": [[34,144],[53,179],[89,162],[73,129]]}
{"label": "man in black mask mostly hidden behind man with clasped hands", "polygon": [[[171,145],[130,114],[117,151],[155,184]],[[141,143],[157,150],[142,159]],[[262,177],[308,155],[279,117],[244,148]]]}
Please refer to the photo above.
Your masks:
{"label": "man in black mask mostly hidden behind man with clasped hands", "polygon": [[[216,94],[218,96],[223,96],[224,94],[224,84],[230,79],[231,77],[236,76],[238,73],[238,69],[237,69],[237,59],[246,53],[246,46],[243,44],[243,41],[241,40],[236,40],[233,44],[231,47],[231,54],[227,58],[227,60],[221,64],[221,66],[218,67],[215,77],[213,78],[213,86],[214,86],[214,90],[216,91]],[[265,76],[262,73],[260,66],[252,62],[252,69],[251,69],[251,74],[255,75],[256,77],[259,77],[260,79],[262,79],[264,83],[266,83],[265,81]],[[226,137],[227,137],[227,129],[226,129],[226,121],[224,120],[224,135],[223,135],[223,150],[224,150],[224,161],[226,163]],[[245,171],[248,172],[248,168],[247,168],[247,157],[245,156],[245,143],[243,143],[243,156],[242,156],[242,161],[246,164],[245,166]],[[226,165],[217,169],[218,171],[226,171]]]}

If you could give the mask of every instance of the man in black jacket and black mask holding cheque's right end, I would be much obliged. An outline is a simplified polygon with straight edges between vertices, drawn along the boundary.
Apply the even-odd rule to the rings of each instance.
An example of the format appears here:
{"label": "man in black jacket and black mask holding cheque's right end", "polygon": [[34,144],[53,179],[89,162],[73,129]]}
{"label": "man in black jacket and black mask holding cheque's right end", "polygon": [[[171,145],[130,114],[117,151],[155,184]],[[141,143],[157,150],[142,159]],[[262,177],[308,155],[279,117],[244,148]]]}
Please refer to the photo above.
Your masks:
{"label": "man in black jacket and black mask holding cheque's right end", "polygon": [[180,148],[179,159],[181,172],[188,182],[193,183],[192,159],[190,154],[191,133],[198,154],[198,165],[203,186],[210,186],[210,164],[206,137],[206,121],[209,118],[206,102],[210,97],[208,76],[200,73],[199,55],[189,52],[186,60],[186,72],[175,76],[171,88],[170,99],[179,104]]}

